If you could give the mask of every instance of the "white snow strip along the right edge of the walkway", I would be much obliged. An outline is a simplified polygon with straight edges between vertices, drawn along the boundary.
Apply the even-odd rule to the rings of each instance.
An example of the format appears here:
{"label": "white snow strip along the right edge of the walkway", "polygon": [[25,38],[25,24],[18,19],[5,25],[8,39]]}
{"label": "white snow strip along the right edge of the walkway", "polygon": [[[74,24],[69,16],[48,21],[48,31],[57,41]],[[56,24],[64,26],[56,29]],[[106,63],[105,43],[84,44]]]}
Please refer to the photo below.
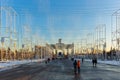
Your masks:
{"label": "white snow strip along the right edge of the walkway", "polygon": [[[92,60],[90,59],[85,59],[85,61],[92,62]],[[98,63],[120,66],[120,61],[116,61],[116,60],[98,60]]]}

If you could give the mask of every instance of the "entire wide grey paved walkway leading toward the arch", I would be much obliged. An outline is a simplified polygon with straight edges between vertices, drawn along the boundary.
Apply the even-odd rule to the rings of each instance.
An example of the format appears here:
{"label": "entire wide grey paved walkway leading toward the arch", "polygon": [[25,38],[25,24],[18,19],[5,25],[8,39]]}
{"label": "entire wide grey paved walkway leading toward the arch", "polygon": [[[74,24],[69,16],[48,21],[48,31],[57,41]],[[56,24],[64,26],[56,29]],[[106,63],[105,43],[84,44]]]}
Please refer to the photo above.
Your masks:
{"label": "entire wide grey paved walkway leading toward the arch", "polygon": [[74,75],[72,61],[55,60],[48,64],[31,63],[0,72],[0,80],[120,80],[119,66],[90,62],[81,64],[81,73]]}

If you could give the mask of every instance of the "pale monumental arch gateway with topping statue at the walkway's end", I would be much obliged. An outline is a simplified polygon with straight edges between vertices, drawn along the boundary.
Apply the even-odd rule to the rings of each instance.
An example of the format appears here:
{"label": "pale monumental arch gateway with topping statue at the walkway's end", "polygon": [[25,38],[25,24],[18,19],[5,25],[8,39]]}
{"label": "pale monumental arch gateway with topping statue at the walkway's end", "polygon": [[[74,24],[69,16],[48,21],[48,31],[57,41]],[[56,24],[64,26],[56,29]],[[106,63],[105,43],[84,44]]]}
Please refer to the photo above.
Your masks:
{"label": "pale monumental arch gateway with topping statue at the walkway's end", "polygon": [[64,57],[74,54],[74,44],[65,44],[62,43],[62,39],[58,39],[58,43],[50,44],[53,55],[56,57]]}

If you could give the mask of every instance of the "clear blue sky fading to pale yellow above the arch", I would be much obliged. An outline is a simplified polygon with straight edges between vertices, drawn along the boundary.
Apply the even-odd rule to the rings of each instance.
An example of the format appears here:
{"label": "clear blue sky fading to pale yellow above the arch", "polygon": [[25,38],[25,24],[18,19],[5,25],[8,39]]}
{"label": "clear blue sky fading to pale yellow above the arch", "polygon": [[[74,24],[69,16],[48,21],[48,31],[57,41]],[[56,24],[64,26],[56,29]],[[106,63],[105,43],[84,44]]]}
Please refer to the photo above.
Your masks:
{"label": "clear blue sky fading to pale yellow above the arch", "polygon": [[[79,42],[95,28],[105,24],[107,48],[111,43],[111,15],[120,9],[120,0],[0,0],[19,15],[17,28],[28,26],[48,43],[62,38],[65,43]],[[27,27],[27,28],[28,28]]]}

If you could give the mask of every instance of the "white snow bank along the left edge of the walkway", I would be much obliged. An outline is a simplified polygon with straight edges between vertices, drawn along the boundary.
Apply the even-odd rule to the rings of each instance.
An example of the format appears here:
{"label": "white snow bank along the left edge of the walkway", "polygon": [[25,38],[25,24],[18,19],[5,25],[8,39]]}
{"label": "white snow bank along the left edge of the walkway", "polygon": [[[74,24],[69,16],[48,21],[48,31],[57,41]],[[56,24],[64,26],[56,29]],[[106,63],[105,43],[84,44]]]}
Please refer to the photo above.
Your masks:
{"label": "white snow bank along the left edge of the walkway", "polygon": [[31,62],[43,62],[45,59],[35,59],[35,60],[14,60],[14,61],[0,61],[0,71],[15,68],[20,64],[26,64]]}

